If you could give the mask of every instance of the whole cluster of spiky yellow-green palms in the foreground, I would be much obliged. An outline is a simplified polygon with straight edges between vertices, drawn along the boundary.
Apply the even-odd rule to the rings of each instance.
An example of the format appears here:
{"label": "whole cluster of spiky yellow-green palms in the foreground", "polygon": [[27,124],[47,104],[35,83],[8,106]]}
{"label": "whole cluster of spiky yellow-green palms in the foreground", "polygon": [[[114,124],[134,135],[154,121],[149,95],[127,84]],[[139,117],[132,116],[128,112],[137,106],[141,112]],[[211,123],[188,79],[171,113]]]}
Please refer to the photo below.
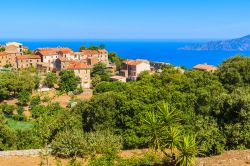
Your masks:
{"label": "whole cluster of spiky yellow-green palms in the foreground", "polygon": [[[150,135],[150,143],[155,150],[161,150],[166,156],[171,157],[172,163],[180,163],[183,166],[192,164],[195,155],[198,154],[198,147],[195,138],[192,136],[183,136],[178,110],[163,103],[158,107],[159,112],[148,112],[143,120]],[[182,139],[181,139],[182,137]],[[166,153],[165,149],[170,148],[171,155]],[[176,159],[174,149],[178,148],[180,157]]]}

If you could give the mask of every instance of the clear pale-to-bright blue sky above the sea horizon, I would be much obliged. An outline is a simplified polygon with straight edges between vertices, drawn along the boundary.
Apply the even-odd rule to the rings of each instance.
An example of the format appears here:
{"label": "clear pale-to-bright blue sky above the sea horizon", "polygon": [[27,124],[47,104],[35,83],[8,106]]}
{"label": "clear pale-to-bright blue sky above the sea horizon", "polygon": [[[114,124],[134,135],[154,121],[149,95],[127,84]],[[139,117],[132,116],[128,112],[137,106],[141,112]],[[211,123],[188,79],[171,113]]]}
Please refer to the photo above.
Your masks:
{"label": "clear pale-to-bright blue sky above the sea horizon", "polygon": [[0,39],[229,39],[250,0],[1,0]]}

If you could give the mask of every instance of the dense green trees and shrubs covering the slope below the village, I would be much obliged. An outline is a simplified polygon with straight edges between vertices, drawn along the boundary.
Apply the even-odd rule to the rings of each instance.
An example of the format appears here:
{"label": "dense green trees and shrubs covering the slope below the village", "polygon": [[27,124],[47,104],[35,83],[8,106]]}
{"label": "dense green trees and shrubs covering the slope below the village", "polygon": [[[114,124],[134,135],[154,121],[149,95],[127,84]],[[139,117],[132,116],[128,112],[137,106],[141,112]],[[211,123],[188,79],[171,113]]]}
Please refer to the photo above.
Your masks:
{"label": "dense green trees and shrubs covering the slope below the village", "polygon": [[[182,74],[163,66],[162,73],[143,72],[128,83],[105,81],[106,68],[98,64],[92,71],[92,76],[99,77],[95,95],[89,101],[64,109],[57,103],[41,105],[39,97],[32,97],[32,128],[10,127],[5,116],[13,118],[15,111],[21,115],[22,109],[2,104],[0,150],[52,147],[55,156],[72,162],[88,156],[87,164],[93,166],[187,166],[199,155],[249,149],[249,61],[250,57],[232,57],[215,73],[188,70]],[[23,79],[31,84],[21,84]],[[1,98],[31,92],[35,80],[27,73],[1,73]],[[74,91],[77,82],[72,71],[60,74],[63,91]],[[118,155],[122,149],[148,147],[155,150],[153,156],[124,159]]]}

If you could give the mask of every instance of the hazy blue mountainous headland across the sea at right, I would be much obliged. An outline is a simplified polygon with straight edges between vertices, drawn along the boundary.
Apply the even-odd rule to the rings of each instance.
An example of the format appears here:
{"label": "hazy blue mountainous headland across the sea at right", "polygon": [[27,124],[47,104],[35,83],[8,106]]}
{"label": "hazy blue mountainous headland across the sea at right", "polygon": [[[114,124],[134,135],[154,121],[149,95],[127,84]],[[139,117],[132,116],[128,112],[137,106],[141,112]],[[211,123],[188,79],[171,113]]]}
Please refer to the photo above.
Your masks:
{"label": "hazy blue mountainous headland across the sea at right", "polygon": [[250,35],[238,39],[210,41],[184,46],[179,50],[194,51],[250,51]]}

